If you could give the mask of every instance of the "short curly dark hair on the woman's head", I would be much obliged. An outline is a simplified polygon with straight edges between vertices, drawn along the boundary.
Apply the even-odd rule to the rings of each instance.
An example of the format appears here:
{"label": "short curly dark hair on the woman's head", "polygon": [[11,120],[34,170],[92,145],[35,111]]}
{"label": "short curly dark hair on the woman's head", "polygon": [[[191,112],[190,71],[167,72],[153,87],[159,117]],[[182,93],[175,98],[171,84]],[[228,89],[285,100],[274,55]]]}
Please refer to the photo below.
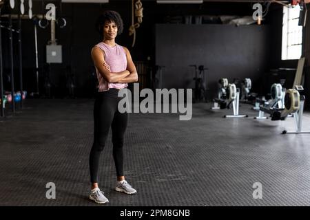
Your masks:
{"label": "short curly dark hair on the woman's head", "polygon": [[103,25],[105,25],[105,22],[114,22],[117,26],[117,35],[121,34],[124,29],[123,20],[121,18],[121,15],[118,14],[118,12],[107,10],[101,14],[101,16],[98,17],[96,20],[96,30],[99,32],[99,34],[103,33]]}

